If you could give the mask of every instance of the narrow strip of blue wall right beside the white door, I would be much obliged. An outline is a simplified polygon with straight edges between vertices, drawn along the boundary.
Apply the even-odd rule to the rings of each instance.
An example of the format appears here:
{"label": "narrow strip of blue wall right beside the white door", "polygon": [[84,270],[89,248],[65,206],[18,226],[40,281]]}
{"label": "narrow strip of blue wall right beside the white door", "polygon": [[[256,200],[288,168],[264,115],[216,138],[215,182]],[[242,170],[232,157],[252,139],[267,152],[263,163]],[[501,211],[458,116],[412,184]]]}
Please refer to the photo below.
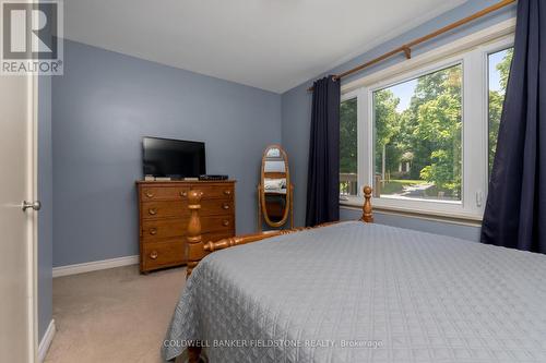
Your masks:
{"label": "narrow strip of blue wall right beside the white door", "polygon": [[54,174],[51,161],[51,78],[38,78],[38,337],[52,317]]}

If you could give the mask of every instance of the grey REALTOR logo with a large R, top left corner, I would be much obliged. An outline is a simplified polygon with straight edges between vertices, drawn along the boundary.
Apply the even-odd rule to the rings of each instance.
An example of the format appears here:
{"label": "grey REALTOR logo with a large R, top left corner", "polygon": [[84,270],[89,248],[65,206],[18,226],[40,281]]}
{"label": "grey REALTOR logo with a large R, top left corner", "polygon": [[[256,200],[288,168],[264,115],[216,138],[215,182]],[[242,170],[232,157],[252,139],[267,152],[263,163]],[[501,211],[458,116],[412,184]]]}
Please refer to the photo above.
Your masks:
{"label": "grey REALTOR logo with a large R, top left corner", "polygon": [[62,74],[62,2],[1,1],[1,74]]}

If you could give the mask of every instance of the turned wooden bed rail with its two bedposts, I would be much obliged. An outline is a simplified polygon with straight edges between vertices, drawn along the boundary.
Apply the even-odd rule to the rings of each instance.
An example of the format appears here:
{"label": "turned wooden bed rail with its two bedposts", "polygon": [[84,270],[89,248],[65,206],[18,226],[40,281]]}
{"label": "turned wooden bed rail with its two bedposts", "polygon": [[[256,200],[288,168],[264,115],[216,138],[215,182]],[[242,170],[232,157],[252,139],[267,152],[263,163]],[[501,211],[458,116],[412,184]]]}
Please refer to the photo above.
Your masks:
{"label": "turned wooden bed rail with its two bedposts", "polygon": [[[238,244],[246,244],[256,241],[261,241],[275,235],[289,234],[299,232],[307,229],[321,228],[331,223],[323,223],[316,227],[300,227],[287,230],[276,230],[268,231],[262,233],[236,235],[228,239],[219,241],[203,241],[201,237],[201,219],[199,217],[199,209],[201,209],[201,197],[203,193],[199,190],[193,190],[189,193],[189,209],[190,209],[190,222],[188,225],[188,268],[187,276],[191,275],[193,268],[195,268],[201,259],[203,259],[207,254],[224,250]],[[373,215],[371,210],[371,187],[364,187],[364,205],[363,205],[363,216],[359,219],[363,222],[371,223],[373,222]]]}

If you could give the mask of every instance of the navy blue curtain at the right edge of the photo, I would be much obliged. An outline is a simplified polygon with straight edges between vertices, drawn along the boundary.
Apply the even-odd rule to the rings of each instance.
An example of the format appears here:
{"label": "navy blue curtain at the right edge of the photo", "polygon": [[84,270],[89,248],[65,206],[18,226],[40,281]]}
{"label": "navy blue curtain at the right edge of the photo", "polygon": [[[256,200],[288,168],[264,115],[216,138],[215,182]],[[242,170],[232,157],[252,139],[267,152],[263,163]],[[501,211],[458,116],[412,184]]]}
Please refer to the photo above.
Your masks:
{"label": "navy blue curtain at the right edge of the photo", "polygon": [[546,1],[520,0],[482,242],[546,253]]}

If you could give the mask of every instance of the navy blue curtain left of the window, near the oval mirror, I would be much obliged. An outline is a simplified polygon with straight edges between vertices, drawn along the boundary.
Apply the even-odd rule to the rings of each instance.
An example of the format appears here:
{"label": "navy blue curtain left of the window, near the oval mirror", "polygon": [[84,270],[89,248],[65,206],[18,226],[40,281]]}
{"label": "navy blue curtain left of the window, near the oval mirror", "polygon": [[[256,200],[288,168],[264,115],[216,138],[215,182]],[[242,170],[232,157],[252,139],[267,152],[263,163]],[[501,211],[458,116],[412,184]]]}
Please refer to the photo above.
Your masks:
{"label": "navy blue curtain left of the window, near the oval mirror", "polygon": [[314,82],[307,173],[306,226],[340,219],[340,82]]}

